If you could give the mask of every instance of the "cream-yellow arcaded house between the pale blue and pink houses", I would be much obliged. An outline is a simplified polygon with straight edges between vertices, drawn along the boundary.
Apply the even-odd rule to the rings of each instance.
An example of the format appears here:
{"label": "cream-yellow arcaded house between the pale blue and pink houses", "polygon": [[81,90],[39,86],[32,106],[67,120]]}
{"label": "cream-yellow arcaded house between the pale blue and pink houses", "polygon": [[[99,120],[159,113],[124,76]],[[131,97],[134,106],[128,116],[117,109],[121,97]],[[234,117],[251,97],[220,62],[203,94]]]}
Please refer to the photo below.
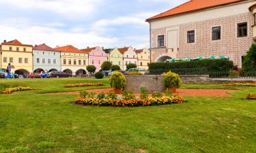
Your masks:
{"label": "cream-yellow arcaded house between the pale blue and pink houses", "polygon": [[63,46],[54,48],[61,54],[61,71],[72,75],[81,76],[87,73],[88,54],[74,46]]}

